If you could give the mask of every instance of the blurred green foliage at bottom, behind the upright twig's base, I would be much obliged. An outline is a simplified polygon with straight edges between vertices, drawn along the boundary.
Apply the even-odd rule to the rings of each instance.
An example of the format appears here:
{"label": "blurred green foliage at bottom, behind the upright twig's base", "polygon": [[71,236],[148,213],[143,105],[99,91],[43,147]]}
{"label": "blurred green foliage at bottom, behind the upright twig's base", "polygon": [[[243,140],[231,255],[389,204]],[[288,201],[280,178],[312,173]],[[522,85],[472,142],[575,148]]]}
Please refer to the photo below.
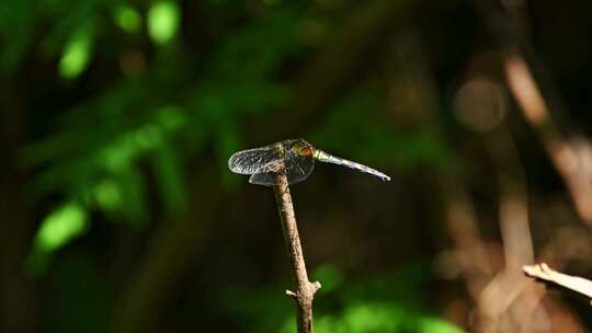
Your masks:
{"label": "blurred green foliage at bottom, behind the upright twig's base", "polygon": [[[315,331],[320,333],[459,333],[460,329],[423,307],[420,284],[425,267],[371,277],[345,278],[330,265],[311,276],[322,288],[315,299]],[[282,286],[287,286],[285,282]],[[278,297],[282,287],[265,290],[230,290],[227,306],[236,315],[249,319],[248,332],[294,332],[293,301]],[[239,301],[240,300],[240,301]]]}

